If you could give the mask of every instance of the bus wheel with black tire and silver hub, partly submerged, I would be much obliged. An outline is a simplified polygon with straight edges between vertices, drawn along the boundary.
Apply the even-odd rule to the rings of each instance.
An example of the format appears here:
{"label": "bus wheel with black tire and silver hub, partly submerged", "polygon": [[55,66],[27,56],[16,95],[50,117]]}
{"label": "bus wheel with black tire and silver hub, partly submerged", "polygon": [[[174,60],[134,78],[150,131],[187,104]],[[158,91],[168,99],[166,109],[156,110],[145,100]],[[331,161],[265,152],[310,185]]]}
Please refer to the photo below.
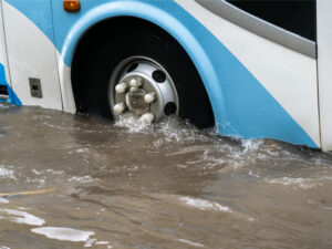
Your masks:
{"label": "bus wheel with black tire and silver hub, partly submerged", "polygon": [[98,110],[113,117],[133,113],[146,123],[175,115],[212,126],[204,83],[177,41],[156,27],[121,30],[94,56],[90,82]]}

